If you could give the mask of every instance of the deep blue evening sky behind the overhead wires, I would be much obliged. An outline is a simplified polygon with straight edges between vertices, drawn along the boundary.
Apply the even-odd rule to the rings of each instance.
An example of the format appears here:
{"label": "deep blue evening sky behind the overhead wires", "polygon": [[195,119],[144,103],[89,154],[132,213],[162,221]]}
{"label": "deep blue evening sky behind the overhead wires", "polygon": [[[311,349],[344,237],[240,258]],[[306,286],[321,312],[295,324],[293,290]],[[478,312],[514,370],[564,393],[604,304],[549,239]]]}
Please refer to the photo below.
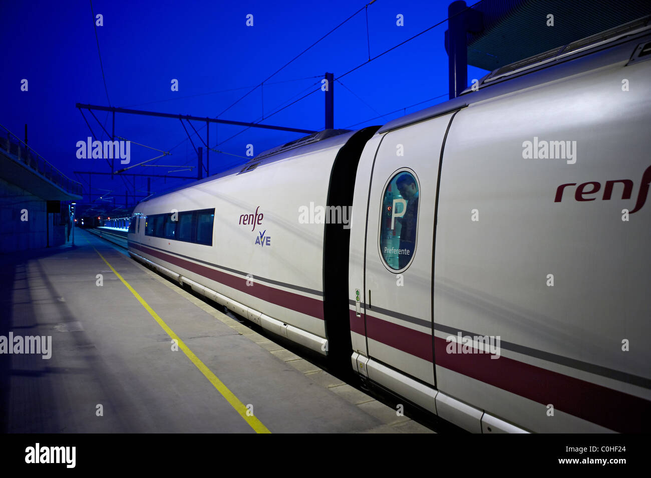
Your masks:
{"label": "deep blue evening sky behind the overhead wires", "polygon": [[[447,18],[449,3],[447,0],[377,0],[368,7],[371,57]],[[76,157],[76,142],[85,140],[90,133],[75,104],[109,103],[90,2],[3,0],[0,5],[3,46],[0,124],[22,139],[27,123],[29,145],[72,179],[81,180],[74,176],[75,170],[109,172],[103,159]],[[97,34],[111,105],[217,116],[364,5],[364,0],[94,0],[95,14],[104,16],[104,26],[97,27]],[[253,27],[245,25],[247,14],[254,16]],[[397,14],[404,16],[403,27],[396,26]],[[408,108],[406,113],[447,100],[447,54],[443,46],[446,29],[447,22],[342,78],[343,85],[354,94],[335,83],[335,127],[358,129],[383,124],[404,112],[364,121],[437,96],[443,95]],[[318,88],[319,85],[311,87],[320,81],[315,76],[327,71],[337,77],[367,59],[367,23],[362,11],[269,80],[264,86],[265,116]],[[480,78],[485,73],[469,67],[468,79]],[[27,92],[20,90],[23,78],[29,81]],[[178,92],[171,91],[173,78],[179,81]],[[323,95],[316,92],[263,122],[323,129]],[[219,117],[251,122],[260,120],[262,111],[262,94],[258,88]],[[90,114],[85,114],[93,131],[100,135],[100,126]],[[111,131],[110,116],[102,112],[96,115],[103,123],[107,121],[107,130]],[[195,123],[195,127],[199,129],[202,124]],[[215,137],[213,124],[210,146],[215,147],[215,140],[221,143],[242,129],[219,125]],[[178,120],[116,114],[115,131],[126,139],[173,153],[151,164],[197,164]],[[205,139],[205,128],[199,131]],[[257,154],[300,136],[300,133],[248,129],[216,148],[245,156],[249,143],[254,145]],[[102,135],[101,139],[107,138]],[[199,146],[199,140],[196,137],[193,140]],[[156,155],[154,151],[132,145],[130,165]],[[211,152],[210,172],[215,174],[245,161]],[[172,169],[139,166],[130,172],[162,174]],[[196,177],[196,170],[171,174]],[[103,190],[112,190],[111,197],[115,195],[118,204],[124,203],[122,180],[100,178],[92,179],[93,198],[104,193]],[[87,181],[88,175],[84,179]],[[81,182],[87,191],[85,181]],[[175,184],[178,182],[152,179],[152,191]],[[136,186],[138,194],[145,194],[146,179],[137,179]]]}

